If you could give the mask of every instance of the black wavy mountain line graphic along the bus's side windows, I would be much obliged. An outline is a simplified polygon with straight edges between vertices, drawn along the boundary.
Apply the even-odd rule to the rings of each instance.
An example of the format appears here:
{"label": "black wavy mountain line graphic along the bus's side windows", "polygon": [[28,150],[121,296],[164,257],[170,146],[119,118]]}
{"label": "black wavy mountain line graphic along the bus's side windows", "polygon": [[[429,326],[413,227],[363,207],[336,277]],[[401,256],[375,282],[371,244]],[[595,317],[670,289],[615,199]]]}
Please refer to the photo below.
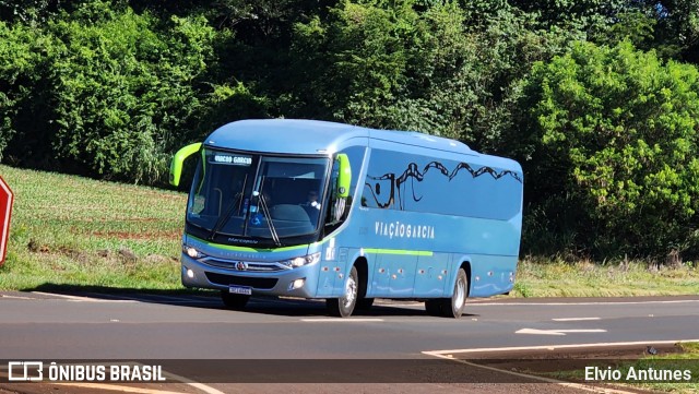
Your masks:
{"label": "black wavy mountain line graphic along the bus's side windows", "polygon": [[[466,172],[471,174],[471,177],[474,179],[483,175],[489,175],[495,180],[499,180],[503,177],[507,177],[507,178],[512,178],[516,181],[522,183],[522,178],[519,176],[519,174],[513,172],[511,170],[497,171],[494,168],[488,166],[483,166],[477,169],[474,169],[467,163],[462,162],[462,163],[459,163],[457,167],[450,171],[443,164],[439,162],[430,162],[423,168],[422,171],[416,163],[410,163],[405,171],[403,171],[403,174],[400,177],[396,177],[395,172],[388,172],[380,177],[374,177],[374,176],[367,175],[367,179],[371,179],[375,182],[374,184],[371,184],[371,182],[366,182],[365,186],[368,187],[369,190],[371,191],[371,196],[374,198],[374,201],[376,202],[376,205],[378,207],[380,208],[390,207],[395,203],[395,196],[398,195],[398,203],[400,204],[399,210],[402,211],[404,208],[405,196],[402,195],[401,190],[405,189],[404,186],[407,184],[406,182],[407,181],[411,182],[410,183],[411,194],[412,194],[413,201],[415,202],[420,201],[423,196],[417,196],[415,194],[414,182],[415,181],[422,182],[425,179],[425,176],[427,175],[427,172],[429,172],[429,170],[433,168],[437,169],[439,174],[447,177],[449,181],[454,179],[459,175],[459,172],[461,172],[462,170],[465,170]],[[386,203],[381,203],[379,201],[380,194],[382,194],[381,183],[389,183],[389,188],[390,188],[389,199],[386,201]]]}

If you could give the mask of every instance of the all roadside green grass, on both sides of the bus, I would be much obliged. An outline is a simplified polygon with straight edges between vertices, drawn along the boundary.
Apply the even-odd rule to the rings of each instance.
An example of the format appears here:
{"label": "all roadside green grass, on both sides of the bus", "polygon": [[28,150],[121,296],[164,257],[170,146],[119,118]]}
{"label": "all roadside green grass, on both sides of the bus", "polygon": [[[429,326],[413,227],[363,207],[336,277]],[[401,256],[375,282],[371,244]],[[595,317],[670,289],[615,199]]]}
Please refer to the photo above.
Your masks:
{"label": "all roadside green grass, on both sides of the bus", "polygon": [[[185,193],[0,165],[15,193],[0,289],[182,289]],[[526,258],[517,297],[699,294],[699,270],[648,270]]]}

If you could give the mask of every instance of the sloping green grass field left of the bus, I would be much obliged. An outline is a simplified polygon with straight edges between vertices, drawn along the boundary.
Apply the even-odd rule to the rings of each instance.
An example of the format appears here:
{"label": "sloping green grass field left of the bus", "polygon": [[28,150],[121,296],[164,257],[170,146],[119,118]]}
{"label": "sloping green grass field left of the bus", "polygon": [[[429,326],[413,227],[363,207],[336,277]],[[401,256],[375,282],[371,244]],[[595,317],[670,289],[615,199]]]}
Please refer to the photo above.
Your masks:
{"label": "sloping green grass field left of the bus", "polygon": [[180,289],[187,196],[0,166],[15,201],[1,289]]}

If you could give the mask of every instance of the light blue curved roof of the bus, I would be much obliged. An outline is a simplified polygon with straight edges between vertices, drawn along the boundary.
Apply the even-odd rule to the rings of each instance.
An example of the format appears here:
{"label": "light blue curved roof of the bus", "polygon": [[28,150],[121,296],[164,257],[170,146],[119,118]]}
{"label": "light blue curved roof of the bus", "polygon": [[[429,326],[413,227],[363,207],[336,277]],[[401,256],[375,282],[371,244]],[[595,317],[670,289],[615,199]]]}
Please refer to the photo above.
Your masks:
{"label": "light blue curved roof of the bus", "polygon": [[216,129],[204,144],[252,152],[324,154],[350,139],[364,138],[440,151],[477,154],[459,141],[416,131],[375,130],[357,126],[299,119],[239,120]]}

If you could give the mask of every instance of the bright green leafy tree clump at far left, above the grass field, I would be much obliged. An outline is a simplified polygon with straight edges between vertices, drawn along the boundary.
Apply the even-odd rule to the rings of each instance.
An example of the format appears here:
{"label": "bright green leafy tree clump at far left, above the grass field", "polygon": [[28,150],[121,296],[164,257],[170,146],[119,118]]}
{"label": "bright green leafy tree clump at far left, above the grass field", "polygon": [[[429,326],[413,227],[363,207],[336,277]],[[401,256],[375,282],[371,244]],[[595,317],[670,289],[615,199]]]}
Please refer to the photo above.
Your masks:
{"label": "bright green leafy tree clump at far left, above the grass field", "polygon": [[203,17],[159,21],[92,0],[43,28],[0,23],[0,36],[12,60],[0,64],[0,154],[15,164],[162,181],[205,102],[221,100],[200,83],[216,36]]}

